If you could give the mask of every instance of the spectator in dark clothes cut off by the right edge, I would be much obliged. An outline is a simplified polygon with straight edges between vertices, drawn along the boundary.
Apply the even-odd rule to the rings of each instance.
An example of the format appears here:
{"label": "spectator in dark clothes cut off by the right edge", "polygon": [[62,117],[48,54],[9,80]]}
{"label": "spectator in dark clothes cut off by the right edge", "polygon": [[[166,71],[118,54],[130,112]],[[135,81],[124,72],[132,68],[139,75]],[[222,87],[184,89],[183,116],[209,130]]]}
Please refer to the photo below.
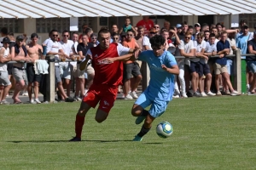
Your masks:
{"label": "spectator in dark clothes cut off by the right edge", "polygon": [[248,89],[248,95],[255,95],[254,89],[256,88],[256,31],[253,32],[253,39],[248,42],[248,51],[249,54],[254,54],[254,56],[247,56],[247,66],[250,71],[253,72],[253,81],[250,88]]}

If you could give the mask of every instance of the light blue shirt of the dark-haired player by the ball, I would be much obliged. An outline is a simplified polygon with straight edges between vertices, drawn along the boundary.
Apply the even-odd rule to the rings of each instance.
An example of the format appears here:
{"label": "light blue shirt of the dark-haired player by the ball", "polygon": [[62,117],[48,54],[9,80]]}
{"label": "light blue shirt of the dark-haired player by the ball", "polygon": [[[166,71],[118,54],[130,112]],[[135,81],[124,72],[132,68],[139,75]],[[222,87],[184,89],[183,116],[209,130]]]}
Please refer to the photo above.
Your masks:
{"label": "light blue shirt of the dark-haired player by the ball", "polygon": [[150,81],[145,90],[149,99],[159,99],[161,101],[172,100],[174,91],[174,75],[162,69],[161,65],[171,68],[177,65],[174,56],[165,51],[160,57],[156,57],[153,50],[143,51],[138,59],[148,63],[150,70]]}

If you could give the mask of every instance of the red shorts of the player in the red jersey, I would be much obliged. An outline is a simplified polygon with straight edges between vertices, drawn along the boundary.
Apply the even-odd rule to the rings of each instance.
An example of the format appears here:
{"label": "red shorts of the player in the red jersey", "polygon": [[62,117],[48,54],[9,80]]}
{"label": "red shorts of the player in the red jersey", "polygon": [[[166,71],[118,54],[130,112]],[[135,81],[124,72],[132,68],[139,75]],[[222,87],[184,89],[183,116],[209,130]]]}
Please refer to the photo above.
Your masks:
{"label": "red shorts of the player in the red jersey", "polygon": [[83,101],[95,108],[100,101],[99,109],[109,113],[118,94],[118,87],[108,85],[91,85]]}

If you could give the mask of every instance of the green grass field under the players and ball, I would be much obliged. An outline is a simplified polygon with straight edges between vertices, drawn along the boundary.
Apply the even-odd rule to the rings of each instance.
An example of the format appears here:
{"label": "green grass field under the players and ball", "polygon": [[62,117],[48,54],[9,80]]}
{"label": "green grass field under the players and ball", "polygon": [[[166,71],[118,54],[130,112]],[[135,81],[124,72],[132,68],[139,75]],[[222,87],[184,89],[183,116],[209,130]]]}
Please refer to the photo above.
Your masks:
{"label": "green grass field under the players and ball", "polygon": [[[143,142],[134,100],[117,100],[106,122],[86,116],[82,142],[69,143],[80,103],[0,105],[0,169],[255,169],[254,96],[173,99]],[[168,139],[157,123],[172,123]]]}

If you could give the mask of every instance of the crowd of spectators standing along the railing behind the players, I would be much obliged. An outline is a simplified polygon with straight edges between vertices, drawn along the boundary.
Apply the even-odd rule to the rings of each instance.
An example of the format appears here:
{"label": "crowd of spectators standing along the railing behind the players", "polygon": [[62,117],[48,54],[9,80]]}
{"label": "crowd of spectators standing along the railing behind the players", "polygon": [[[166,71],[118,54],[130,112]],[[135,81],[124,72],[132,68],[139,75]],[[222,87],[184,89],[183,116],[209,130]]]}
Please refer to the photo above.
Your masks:
{"label": "crowd of spectators standing along the railing behind the players", "polygon": [[[91,47],[98,45],[97,34],[83,25],[83,32],[52,30],[49,38],[43,44],[38,44],[38,34],[33,33],[26,44],[26,34],[14,37],[6,28],[1,29],[0,37],[0,102],[8,105],[8,96],[12,86],[15,87],[13,100],[20,104],[19,95],[27,95],[29,102],[39,104],[47,102],[38,100],[38,93],[44,84],[44,73],[38,73],[38,68],[47,63],[40,63],[47,54],[55,55],[55,84],[58,101],[80,101],[90,88],[94,78],[93,65],[87,65],[84,71],[79,70],[79,63]],[[215,95],[240,95],[232,86],[232,58],[237,48],[242,54],[256,54],[256,31],[249,31],[246,20],[241,20],[239,28],[227,30],[223,24],[208,25],[195,23],[189,26],[186,21],[171,26],[165,21],[163,26],[154,23],[148,16],[143,16],[136,26],[131,26],[130,18],[125,19],[125,25],[120,28],[113,25],[111,42],[128,48],[151,50],[150,37],[161,35],[166,39],[166,50],[177,58],[180,73],[176,78],[173,98],[207,97]],[[256,30],[256,26],[255,26]],[[218,55],[218,58],[211,56]],[[67,62],[72,59],[73,62]],[[8,61],[25,61],[24,63],[7,64]],[[247,61],[247,91],[254,95],[256,88],[256,58],[246,57]],[[47,67],[45,67],[47,68]],[[142,81],[142,62],[127,60],[124,62],[123,86],[119,93],[123,99],[137,99],[137,87]],[[75,94],[71,96],[73,81]],[[13,84],[11,84],[13,82]],[[66,89],[66,90],[65,90]],[[34,99],[32,99],[34,94]]]}

